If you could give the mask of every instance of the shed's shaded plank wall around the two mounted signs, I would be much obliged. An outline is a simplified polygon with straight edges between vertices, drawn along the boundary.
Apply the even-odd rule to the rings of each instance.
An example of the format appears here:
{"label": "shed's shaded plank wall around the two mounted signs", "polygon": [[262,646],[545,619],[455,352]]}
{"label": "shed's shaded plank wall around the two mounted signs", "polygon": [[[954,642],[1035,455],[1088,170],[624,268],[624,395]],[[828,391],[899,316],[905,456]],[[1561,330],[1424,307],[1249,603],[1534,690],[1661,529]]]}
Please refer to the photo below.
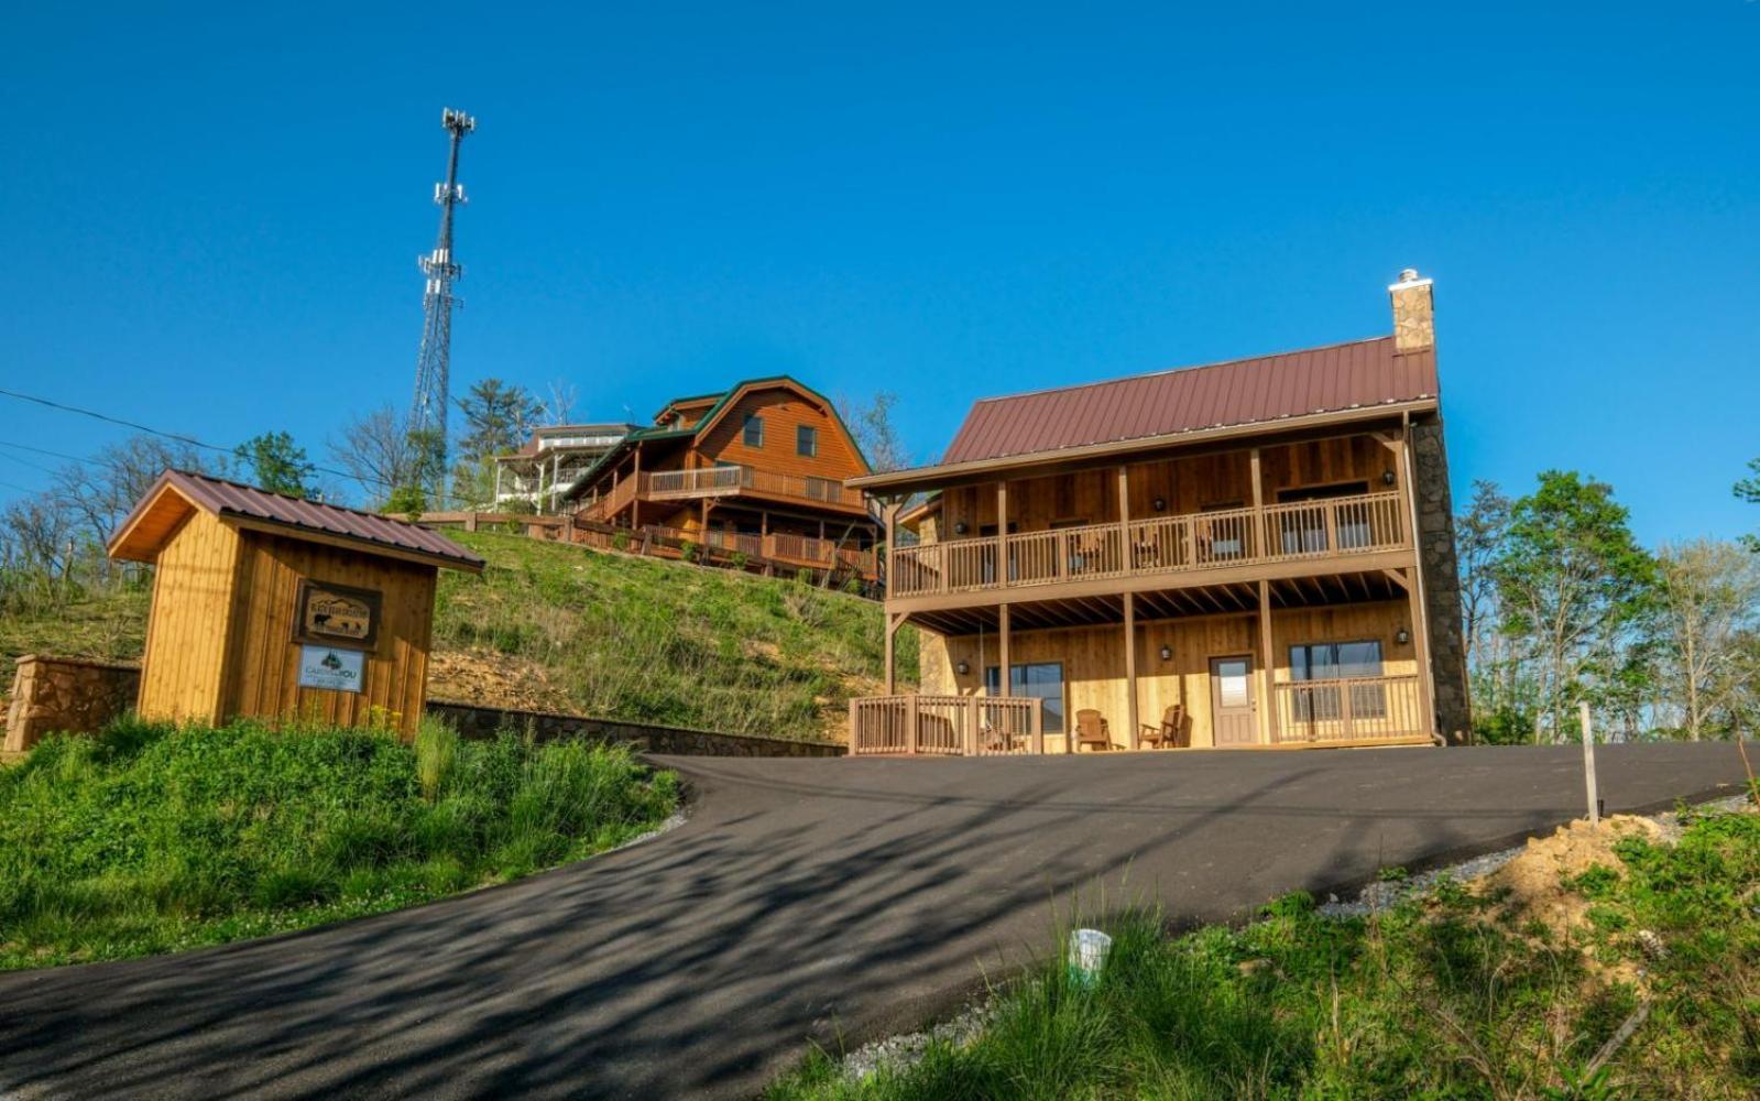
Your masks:
{"label": "shed's shaded plank wall around the two mounted signs", "polygon": [[[297,715],[338,726],[389,724],[412,736],[428,685],[436,569],[338,548],[245,532],[232,601],[234,661],[227,715]],[[299,687],[294,615],[299,581],[312,578],[382,594],[378,639],[361,692]]]}

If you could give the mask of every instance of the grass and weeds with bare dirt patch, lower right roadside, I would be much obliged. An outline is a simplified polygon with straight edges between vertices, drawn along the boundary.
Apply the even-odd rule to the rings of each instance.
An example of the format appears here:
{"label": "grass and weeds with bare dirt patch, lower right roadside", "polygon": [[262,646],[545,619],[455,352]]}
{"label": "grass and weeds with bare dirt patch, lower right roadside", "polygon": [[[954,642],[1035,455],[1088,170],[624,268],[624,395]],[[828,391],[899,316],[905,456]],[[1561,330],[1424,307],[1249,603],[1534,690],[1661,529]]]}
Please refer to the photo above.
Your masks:
{"label": "grass and weeds with bare dirt patch, lower right roadside", "polygon": [[[1700,817],[1677,846],[1626,840],[1619,858],[1575,884],[1593,923],[1565,935],[1452,881],[1360,920],[1301,893],[1172,939],[1130,914],[1091,988],[1047,964],[994,994],[970,1043],[861,1082],[815,1053],[767,1096],[1760,1096],[1760,816]],[[1644,990],[1612,978],[1621,965]]]}

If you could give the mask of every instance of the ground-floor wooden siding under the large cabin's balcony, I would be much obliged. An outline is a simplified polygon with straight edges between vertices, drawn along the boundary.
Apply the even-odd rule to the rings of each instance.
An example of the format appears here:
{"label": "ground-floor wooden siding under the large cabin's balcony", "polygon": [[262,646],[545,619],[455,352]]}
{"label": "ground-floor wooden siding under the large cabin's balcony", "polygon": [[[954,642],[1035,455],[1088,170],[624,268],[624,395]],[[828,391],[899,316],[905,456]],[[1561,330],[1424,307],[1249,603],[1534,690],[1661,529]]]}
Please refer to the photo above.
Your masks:
{"label": "ground-floor wooden siding under the large cabin's balcony", "polygon": [[[1412,643],[1399,645],[1394,634],[1412,627],[1404,601],[1376,601],[1362,604],[1331,604],[1271,613],[1272,661],[1278,684],[1290,680],[1290,647],[1301,643],[1343,643],[1378,639],[1382,643],[1382,671],[1389,676],[1417,673]],[[933,696],[973,696],[984,687],[984,668],[1000,661],[1000,639],[986,632],[979,636],[943,638],[929,631],[919,632],[920,691]],[[1162,661],[1162,647],[1170,647],[1174,657]],[[1179,620],[1153,620],[1137,624],[1137,701],[1142,722],[1158,722],[1163,710],[1184,703],[1192,717],[1192,745],[1214,745],[1211,722],[1209,661],[1237,654],[1253,655],[1253,669],[1264,666],[1258,643],[1258,617],[1214,615]],[[968,662],[970,673],[959,675],[957,662]],[[1067,719],[1081,708],[1098,710],[1112,729],[1112,740],[1130,743],[1130,703],[1125,680],[1125,629],[1067,627],[1052,631],[1014,631],[1008,636],[1008,661],[1016,666],[1030,662],[1063,662]],[[1267,706],[1258,676],[1253,678],[1255,706]],[[1045,735],[1047,750],[1061,752],[1063,742]]]}

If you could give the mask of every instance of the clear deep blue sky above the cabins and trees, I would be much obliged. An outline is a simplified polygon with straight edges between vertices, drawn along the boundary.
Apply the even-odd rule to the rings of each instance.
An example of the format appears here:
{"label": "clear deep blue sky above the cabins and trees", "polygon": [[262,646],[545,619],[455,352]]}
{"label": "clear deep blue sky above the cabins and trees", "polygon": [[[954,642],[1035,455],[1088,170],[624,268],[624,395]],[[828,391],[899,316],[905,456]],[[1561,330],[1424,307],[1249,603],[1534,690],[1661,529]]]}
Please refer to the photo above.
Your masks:
{"label": "clear deep blue sky above the cabins and trees", "polygon": [[458,106],[456,388],[788,372],[931,460],[982,395],[1385,333],[1417,266],[1457,495],[1760,525],[1760,4],[246,7],[4,16],[0,386],[315,454],[407,403]]}

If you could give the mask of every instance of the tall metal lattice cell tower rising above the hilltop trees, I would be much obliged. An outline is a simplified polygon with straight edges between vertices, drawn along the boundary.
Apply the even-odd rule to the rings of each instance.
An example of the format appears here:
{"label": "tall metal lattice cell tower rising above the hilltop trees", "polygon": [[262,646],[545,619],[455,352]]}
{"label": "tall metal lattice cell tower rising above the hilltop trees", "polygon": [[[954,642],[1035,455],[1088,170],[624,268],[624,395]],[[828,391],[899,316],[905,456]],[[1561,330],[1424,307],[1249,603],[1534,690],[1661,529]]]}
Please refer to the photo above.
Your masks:
{"label": "tall metal lattice cell tower rising above the hilltop trees", "polygon": [[[452,136],[452,150],[445,162],[445,183],[435,183],[435,203],[440,206],[440,238],[429,255],[419,257],[428,287],[422,291],[422,351],[415,358],[415,402],[410,405],[410,435],[424,451],[419,465],[422,490],[428,491],[433,506],[445,502],[447,469],[447,410],[452,403],[449,391],[452,370],[452,307],[463,305],[454,298],[452,284],[465,275],[465,268],[452,259],[452,211],[465,204],[465,185],[458,181],[458,146],[465,134],[477,129],[477,120],[463,111],[447,107],[440,113],[440,125]],[[431,507],[433,507],[431,506]]]}

